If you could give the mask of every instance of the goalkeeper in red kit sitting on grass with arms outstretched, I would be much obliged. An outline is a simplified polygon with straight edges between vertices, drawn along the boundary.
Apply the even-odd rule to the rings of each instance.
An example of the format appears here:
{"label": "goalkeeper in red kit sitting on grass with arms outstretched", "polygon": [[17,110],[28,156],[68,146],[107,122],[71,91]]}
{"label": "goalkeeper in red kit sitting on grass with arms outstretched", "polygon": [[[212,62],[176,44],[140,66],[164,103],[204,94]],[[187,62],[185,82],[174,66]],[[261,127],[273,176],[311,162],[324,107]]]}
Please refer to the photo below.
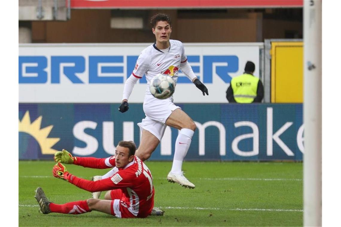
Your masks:
{"label": "goalkeeper in red kit sitting on grass with arms outstretched", "polygon": [[[146,164],[135,156],[135,150],[134,142],[120,141],[115,156],[109,158],[72,157],[66,150],[57,152],[55,154],[57,164],[52,171],[54,177],[89,192],[107,191],[107,193],[105,200],[90,198],[58,205],[48,201],[42,188],[38,188],[35,198],[41,212],[83,214],[96,210],[119,218],[147,217],[154,206],[153,180]],[[117,171],[112,177],[90,181],[72,175],[61,163],[97,169],[116,166]]]}

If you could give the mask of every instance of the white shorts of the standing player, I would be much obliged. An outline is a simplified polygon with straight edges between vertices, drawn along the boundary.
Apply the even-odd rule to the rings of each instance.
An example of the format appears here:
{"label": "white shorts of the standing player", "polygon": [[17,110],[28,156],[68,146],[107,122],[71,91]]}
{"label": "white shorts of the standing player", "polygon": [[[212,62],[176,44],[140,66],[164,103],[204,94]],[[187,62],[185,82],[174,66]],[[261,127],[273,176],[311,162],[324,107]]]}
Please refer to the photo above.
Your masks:
{"label": "white shorts of the standing player", "polygon": [[[143,111],[146,117],[137,125],[155,135],[161,141],[166,129],[166,120],[172,111],[180,108],[172,102],[173,98],[157,99],[152,95],[146,95],[143,102]],[[181,109],[181,108],[180,108]]]}

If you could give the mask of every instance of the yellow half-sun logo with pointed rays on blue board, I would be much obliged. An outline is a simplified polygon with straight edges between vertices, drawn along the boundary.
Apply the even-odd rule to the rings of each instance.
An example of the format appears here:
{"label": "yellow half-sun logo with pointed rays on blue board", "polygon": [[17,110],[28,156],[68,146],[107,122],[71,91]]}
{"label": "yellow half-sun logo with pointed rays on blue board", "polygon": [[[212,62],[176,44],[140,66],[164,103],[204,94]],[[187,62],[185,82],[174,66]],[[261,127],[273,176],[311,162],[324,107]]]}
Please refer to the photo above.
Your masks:
{"label": "yellow half-sun logo with pointed rays on blue board", "polygon": [[30,113],[26,111],[23,119],[19,120],[19,132],[25,132],[38,142],[43,155],[50,155],[57,152],[57,150],[52,149],[52,147],[58,143],[60,138],[48,138],[53,125],[47,126],[45,128],[40,128],[42,122],[42,116],[39,116],[32,123],[30,120]]}

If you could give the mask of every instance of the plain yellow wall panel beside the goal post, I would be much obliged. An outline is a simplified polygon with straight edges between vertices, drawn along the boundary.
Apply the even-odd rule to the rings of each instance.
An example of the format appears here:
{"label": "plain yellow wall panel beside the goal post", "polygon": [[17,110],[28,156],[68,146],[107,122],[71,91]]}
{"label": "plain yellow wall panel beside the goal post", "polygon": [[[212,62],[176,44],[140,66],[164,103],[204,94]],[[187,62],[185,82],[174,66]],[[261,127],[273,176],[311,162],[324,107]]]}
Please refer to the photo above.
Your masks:
{"label": "plain yellow wall panel beside the goal post", "polygon": [[303,102],[303,42],[271,43],[271,102]]}

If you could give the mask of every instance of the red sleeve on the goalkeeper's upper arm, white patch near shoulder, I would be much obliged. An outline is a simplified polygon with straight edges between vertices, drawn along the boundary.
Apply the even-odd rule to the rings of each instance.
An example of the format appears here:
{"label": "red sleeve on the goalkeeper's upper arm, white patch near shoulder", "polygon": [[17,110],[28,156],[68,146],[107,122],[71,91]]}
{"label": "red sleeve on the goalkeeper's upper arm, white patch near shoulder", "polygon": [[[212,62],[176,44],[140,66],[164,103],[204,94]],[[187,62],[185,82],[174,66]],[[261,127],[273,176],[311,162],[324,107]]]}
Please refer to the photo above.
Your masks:
{"label": "red sleeve on the goalkeeper's upper arm, white patch near shoulder", "polygon": [[109,158],[77,157],[73,164],[94,169],[106,169],[115,166],[115,156]]}

